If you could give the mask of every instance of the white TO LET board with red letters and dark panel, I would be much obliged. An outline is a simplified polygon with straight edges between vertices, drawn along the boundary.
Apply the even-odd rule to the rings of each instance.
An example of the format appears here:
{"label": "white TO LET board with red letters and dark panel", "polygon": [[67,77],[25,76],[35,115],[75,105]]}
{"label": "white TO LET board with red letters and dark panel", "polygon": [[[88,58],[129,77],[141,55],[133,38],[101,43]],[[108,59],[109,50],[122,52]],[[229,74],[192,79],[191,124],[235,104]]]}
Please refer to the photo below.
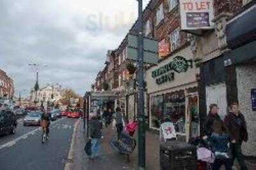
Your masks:
{"label": "white TO LET board with red letters and dark panel", "polygon": [[180,0],[182,30],[214,29],[213,0]]}

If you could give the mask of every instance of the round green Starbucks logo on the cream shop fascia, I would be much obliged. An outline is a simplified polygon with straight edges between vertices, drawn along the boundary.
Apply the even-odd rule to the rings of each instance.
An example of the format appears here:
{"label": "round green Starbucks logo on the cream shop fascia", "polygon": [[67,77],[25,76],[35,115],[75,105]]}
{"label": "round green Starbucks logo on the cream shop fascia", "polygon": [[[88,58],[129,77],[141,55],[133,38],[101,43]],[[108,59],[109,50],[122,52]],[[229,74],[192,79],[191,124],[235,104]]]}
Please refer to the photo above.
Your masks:
{"label": "round green Starbucks logo on the cream shop fascia", "polygon": [[172,67],[177,73],[185,73],[188,71],[189,67],[188,60],[186,60],[184,57],[177,56],[173,59]]}

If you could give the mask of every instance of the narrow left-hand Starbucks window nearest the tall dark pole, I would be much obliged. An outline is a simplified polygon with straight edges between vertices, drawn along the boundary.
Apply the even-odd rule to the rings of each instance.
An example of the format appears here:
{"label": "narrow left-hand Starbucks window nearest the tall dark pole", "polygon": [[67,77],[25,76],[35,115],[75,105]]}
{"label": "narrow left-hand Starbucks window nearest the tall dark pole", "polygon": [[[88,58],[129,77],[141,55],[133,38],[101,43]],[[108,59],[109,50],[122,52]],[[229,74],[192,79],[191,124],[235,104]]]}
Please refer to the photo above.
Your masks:
{"label": "narrow left-hand Starbucks window nearest the tall dark pole", "polygon": [[163,95],[150,97],[151,127],[159,129],[163,117]]}

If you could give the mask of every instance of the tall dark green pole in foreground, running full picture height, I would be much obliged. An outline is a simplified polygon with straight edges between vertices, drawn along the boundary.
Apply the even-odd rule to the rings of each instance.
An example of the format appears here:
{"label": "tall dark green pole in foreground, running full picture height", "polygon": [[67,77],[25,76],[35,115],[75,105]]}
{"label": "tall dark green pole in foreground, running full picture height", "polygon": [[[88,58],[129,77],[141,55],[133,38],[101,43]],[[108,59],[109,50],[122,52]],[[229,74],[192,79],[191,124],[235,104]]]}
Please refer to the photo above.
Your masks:
{"label": "tall dark green pole in foreground, running full picture height", "polygon": [[138,169],[145,169],[145,115],[143,69],[143,2],[138,0]]}

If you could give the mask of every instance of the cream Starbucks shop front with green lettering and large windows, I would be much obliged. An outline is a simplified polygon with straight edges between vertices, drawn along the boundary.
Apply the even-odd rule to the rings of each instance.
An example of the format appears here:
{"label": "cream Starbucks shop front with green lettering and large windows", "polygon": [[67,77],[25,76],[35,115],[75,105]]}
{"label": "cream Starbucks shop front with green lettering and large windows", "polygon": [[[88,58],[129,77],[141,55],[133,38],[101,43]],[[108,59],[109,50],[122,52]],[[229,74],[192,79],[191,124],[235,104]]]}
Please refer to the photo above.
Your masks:
{"label": "cream Starbucks shop front with green lettering and large windows", "polygon": [[183,141],[199,135],[199,70],[192,56],[191,50],[184,48],[147,70],[150,128],[159,129],[168,118]]}

